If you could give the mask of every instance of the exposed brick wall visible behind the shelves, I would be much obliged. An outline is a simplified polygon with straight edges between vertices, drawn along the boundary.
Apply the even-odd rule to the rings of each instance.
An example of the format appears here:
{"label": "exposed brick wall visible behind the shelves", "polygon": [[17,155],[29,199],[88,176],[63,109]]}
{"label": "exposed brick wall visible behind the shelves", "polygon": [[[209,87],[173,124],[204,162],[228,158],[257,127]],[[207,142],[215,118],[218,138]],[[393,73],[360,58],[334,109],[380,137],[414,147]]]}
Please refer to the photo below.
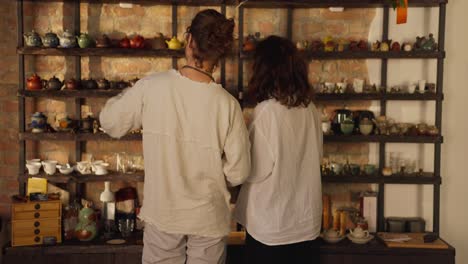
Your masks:
{"label": "exposed brick wall visible behind the shelves", "polygon": [[[218,9],[218,7],[214,7]],[[35,29],[44,34],[48,29],[54,32],[62,32],[71,28],[72,8],[71,4],[63,3],[25,3],[25,30]],[[201,8],[179,7],[178,37],[183,37],[185,28],[193,16]],[[142,34],[144,37],[154,37],[158,32],[170,35],[171,32],[171,7],[170,6],[135,6],[133,9],[122,9],[112,4],[82,4],[81,5],[81,29],[89,32],[91,36],[98,37],[103,33],[111,38],[122,38],[126,34]],[[16,193],[18,184],[16,175],[18,169],[18,117],[16,89],[18,84],[16,47],[16,7],[12,1],[7,1],[0,6],[0,30],[4,33],[5,43],[0,47],[2,56],[0,67],[0,215],[9,215],[9,196]],[[228,17],[236,16],[236,9],[229,7]],[[331,13],[327,9],[297,9],[294,12],[293,39],[315,39],[328,35],[346,39],[366,39],[369,26],[375,16],[374,9],[346,10],[343,13]],[[247,34],[261,32],[263,36],[269,34],[286,34],[286,11],[281,9],[247,9],[245,12],[245,32]],[[179,64],[183,64],[180,60]],[[226,67],[227,88],[237,86],[237,59],[228,58]],[[53,75],[60,79],[73,77],[74,65],[71,58],[64,57],[33,57],[26,59],[26,76],[37,72],[43,78]],[[249,72],[250,64],[246,63],[245,71]],[[100,78],[110,80],[132,79],[143,77],[151,72],[163,71],[171,68],[170,59],[162,58],[82,58],[83,77]],[[343,61],[313,61],[310,63],[310,81],[340,81],[343,78],[352,80],[354,77],[367,77],[367,67],[364,60]],[[248,76],[248,75],[247,75]],[[219,78],[219,73],[215,76]],[[247,79],[247,78],[245,78]],[[245,80],[246,81],[246,80]],[[86,112],[90,111],[98,115],[105,100],[85,100]],[[27,120],[34,111],[42,111],[53,122],[57,115],[68,113],[73,115],[74,100],[52,99],[27,99]],[[366,107],[365,102],[356,102],[348,105],[350,108]],[[334,104],[326,107],[327,112],[342,107]],[[57,159],[60,162],[75,161],[72,142],[28,142],[27,156],[42,159]],[[130,154],[141,153],[140,142],[89,142],[87,153],[92,153],[97,159],[103,159],[113,152],[126,151]],[[352,162],[366,163],[368,145],[366,144],[330,144],[325,147],[325,152],[348,152]],[[129,183],[114,184],[114,189]],[[97,200],[97,195],[102,189],[102,184],[89,184],[87,196]],[[141,187],[141,184],[139,184]],[[340,188],[326,187],[326,191],[336,192]],[[352,187],[357,188],[357,187]],[[348,188],[349,189],[349,188]]]}

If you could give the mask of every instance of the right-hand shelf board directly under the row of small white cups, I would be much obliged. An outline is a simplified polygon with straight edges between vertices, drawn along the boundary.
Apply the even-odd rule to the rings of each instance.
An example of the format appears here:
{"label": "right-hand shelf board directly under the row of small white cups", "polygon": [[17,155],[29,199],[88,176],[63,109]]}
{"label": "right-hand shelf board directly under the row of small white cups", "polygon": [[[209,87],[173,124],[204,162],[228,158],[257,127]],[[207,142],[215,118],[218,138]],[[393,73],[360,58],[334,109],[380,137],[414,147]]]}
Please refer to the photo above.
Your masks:
{"label": "right-hand shelf board directly under the row of small white cups", "polygon": [[392,94],[392,93],[317,93],[316,101],[348,101],[348,100],[395,100],[395,101],[437,101],[443,100],[443,94]]}

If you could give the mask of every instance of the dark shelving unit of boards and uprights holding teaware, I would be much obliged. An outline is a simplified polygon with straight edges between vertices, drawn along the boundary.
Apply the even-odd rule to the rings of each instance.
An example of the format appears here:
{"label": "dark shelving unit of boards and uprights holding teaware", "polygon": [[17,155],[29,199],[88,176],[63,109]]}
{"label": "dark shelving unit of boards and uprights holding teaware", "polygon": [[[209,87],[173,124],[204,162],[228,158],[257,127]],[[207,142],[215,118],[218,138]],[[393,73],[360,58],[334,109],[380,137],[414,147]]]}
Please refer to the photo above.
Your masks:
{"label": "dark shelving unit of boards and uprights holding teaware", "polygon": [[[71,11],[74,18],[74,33],[80,32],[80,2],[89,3],[118,3],[117,0],[46,0],[51,2],[72,2],[73,10]],[[177,35],[177,6],[178,5],[204,5],[204,6],[221,6],[221,12],[226,12],[227,5],[237,5],[239,1],[236,0],[142,0],[142,1],[125,1],[125,2],[138,2],[139,4],[164,4],[172,6],[172,32],[171,35]],[[25,193],[25,182],[29,177],[25,173],[25,153],[27,140],[65,140],[75,141],[75,156],[76,159],[81,159],[81,154],[85,152],[87,141],[98,140],[116,140],[110,138],[105,134],[85,134],[85,133],[30,133],[26,130],[25,123],[25,98],[73,98],[75,100],[74,114],[80,116],[81,105],[83,98],[107,98],[117,95],[120,90],[77,90],[77,91],[28,91],[25,90],[25,56],[71,56],[74,58],[75,63],[75,79],[81,79],[81,57],[87,56],[104,56],[104,57],[160,57],[172,59],[174,68],[177,66],[177,59],[183,57],[183,51],[172,50],[152,50],[152,49],[120,49],[120,48],[30,48],[25,47],[23,42],[24,31],[24,17],[23,17],[23,0],[17,0],[17,17],[18,17],[18,62],[19,62],[19,177],[20,193]],[[387,104],[391,101],[434,101],[436,104],[435,125],[442,131],[442,101],[443,95],[443,66],[445,59],[445,18],[446,18],[446,4],[447,0],[410,0],[410,7],[438,7],[439,8],[439,34],[438,34],[438,47],[439,50],[435,52],[372,52],[372,51],[359,51],[359,52],[303,52],[303,56],[307,59],[315,60],[347,60],[347,59],[378,59],[381,60],[381,85],[387,85],[387,65],[390,59],[430,59],[437,60],[437,92],[434,94],[391,94],[391,93],[375,93],[375,94],[317,94],[317,101],[354,101],[354,100],[374,100],[380,102],[380,113],[386,114]],[[388,0],[295,0],[295,1],[264,1],[264,0],[250,0],[239,7],[238,17],[238,36],[239,47],[242,47],[244,36],[244,9],[252,7],[261,8],[287,8],[287,36],[292,36],[292,18],[294,8],[307,7],[307,8],[324,8],[330,6],[343,6],[345,8],[374,8],[380,7],[384,11],[383,19],[383,35],[382,39],[388,39],[389,28],[389,10],[390,1]],[[251,53],[236,53],[239,57],[238,62],[238,86],[237,93],[239,100],[242,102],[243,97],[243,66],[244,60],[250,59]],[[104,76],[103,76],[104,77]],[[221,63],[221,83],[225,85],[225,64]],[[139,134],[129,135],[121,138],[120,140],[141,140],[142,136]],[[440,215],[440,184],[442,182],[440,175],[440,160],[441,160],[441,143],[443,142],[442,136],[437,137],[401,137],[401,136],[362,136],[362,135],[327,135],[324,138],[325,142],[373,142],[379,144],[379,166],[382,169],[385,163],[385,147],[387,143],[416,143],[416,144],[434,144],[434,172],[431,174],[423,174],[422,176],[391,176],[385,177],[383,175],[376,176],[360,176],[360,177],[323,177],[324,182],[335,183],[375,183],[379,186],[378,194],[378,230],[384,230],[384,196],[386,184],[431,184],[434,186],[434,215],[433,215],[433,230],[439,232],[439,215]],[[379,171],[380,171],[379,170]],[[436,176],[434,176],[436,175]],[[111,173],[106,176],[94,175],[76,175],[69,176],[47,176],[45,177],[51,182],[68,183],[69,181],[76,181],[79,184],[77,187],[77,194],[79,190],[83,190],[79,185],[85,182],[103,181],[103,180],[126,180],[126,181],[143,181],[143,174],[123,175]]]}

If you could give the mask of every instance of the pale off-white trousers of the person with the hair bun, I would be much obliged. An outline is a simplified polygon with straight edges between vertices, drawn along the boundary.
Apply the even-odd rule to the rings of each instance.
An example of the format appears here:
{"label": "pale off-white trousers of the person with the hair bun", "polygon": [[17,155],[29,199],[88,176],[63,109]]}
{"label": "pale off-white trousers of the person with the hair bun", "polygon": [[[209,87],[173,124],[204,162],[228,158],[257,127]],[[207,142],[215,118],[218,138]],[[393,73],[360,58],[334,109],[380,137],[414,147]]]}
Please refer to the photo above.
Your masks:
{"label": "pale off-white trousers of the person with the hair bun", "polygon": [[224,264],[226,239],[168,234],[146,224],[143,264]]}

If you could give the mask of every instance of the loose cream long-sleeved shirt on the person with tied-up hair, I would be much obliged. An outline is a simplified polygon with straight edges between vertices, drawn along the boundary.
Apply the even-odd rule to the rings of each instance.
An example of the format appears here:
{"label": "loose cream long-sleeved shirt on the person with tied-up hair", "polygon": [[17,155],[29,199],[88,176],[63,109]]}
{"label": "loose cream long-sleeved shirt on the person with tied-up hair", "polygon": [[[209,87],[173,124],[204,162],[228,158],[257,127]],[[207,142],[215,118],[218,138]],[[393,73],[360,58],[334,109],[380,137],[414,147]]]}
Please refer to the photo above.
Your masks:
{"label": "loose cream long-sleeved shirt on the person with tied-up hair", "polygon": [[109,99],[100,121],[114,138],[143,127],[142,220],[172,234],[229,233],[227,186],[247,178],[250,143],[239,103],[221,85],[153,74]]}

